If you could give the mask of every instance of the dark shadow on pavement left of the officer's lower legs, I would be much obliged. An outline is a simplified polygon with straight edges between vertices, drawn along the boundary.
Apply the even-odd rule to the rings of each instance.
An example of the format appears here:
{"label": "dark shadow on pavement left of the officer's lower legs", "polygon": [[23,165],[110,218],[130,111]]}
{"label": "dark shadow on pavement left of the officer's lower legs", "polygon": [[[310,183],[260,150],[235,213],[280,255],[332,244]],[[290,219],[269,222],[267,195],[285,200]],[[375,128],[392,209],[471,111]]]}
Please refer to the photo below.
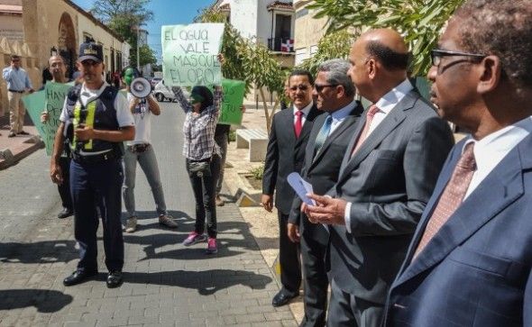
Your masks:
{"label": "dark shadow on pavement left of the officer's lower legs", "polygon": [[78,258],[76,241],[36,241],[33,243],[0,243],[0,262],[52,263],[69,262]]}

